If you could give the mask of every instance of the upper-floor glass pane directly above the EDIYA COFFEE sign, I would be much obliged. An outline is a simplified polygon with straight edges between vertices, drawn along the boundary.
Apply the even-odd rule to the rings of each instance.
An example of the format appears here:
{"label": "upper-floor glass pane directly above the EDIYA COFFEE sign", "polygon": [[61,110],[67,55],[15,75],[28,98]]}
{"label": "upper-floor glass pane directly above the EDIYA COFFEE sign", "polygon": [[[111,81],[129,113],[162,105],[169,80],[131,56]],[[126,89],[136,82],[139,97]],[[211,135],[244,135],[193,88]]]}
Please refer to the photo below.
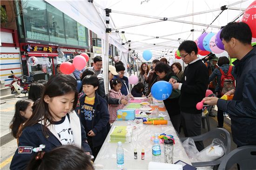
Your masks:
{"label": "upper-floor glass pane directly above the EDIYA COFFEE sign", "polygon": [[67,44],[78,45],[77,22],[64,14]]}

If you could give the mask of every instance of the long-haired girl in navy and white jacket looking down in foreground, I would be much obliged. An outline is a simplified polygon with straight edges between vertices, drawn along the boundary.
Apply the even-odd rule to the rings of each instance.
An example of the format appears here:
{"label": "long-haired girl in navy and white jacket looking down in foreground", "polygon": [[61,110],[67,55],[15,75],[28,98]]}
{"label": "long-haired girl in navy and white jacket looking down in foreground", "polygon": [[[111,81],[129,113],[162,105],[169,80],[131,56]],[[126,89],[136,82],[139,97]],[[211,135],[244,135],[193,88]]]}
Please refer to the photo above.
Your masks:
{"label": "long-haired girl in navy and white jacket looking down in foreground", "polygon": [[76,85],[76,80],[69,75],[58,74],[49,79],[32,116],[21,128],[11,170],[26,169],[33,148],[40,144],[46,146],[46,152],[74,144],[91,153],[84,128],[74,111],[78,100]]}

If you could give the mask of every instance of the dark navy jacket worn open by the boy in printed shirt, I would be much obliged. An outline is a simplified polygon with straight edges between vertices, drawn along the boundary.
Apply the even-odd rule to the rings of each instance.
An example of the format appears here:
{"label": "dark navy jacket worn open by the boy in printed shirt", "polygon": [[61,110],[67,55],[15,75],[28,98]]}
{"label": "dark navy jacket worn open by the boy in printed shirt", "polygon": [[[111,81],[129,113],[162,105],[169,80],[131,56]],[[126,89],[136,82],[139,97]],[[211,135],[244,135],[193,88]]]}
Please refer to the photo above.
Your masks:
{"label": "dark navy jacket worn open by the boy in printed shirt", "polygon": [[85,119],[83,110],[81,109],[84,103],[86,95],[83,94],[80,101],[80,119],[81,123],[84,126],[86,134],[90,130],[94,131],[95,136],[92,137],[93,147],[100,146],[104,143],[108,131],[109,131],[109,113],[108,113],[108,105],[104,98],[101,98],[97,93],[95,93],[94,105],[93,105],[93,119],[92,121],[88,121]]}

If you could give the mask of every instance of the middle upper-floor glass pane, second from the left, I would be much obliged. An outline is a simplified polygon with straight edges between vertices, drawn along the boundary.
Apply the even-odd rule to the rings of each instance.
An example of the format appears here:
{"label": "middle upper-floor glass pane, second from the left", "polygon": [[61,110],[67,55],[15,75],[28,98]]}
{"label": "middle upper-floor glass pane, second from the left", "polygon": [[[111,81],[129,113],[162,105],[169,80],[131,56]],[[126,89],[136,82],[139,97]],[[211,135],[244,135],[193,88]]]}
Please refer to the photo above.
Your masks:
{"label": "middle upper-floor glass pane, second from the left", "polygon": [[49,34],[55,37],[65,38],[63,13],[55,7],[47,4]]}

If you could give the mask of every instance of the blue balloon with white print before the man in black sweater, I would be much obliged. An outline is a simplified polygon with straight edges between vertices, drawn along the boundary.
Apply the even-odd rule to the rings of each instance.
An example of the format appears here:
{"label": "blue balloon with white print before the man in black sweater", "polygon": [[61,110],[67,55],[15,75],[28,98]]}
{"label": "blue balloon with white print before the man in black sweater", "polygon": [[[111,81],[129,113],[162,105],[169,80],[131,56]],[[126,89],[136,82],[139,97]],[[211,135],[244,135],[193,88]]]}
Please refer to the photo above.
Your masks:
{"label": "blue balloon with white print before the man in black sweater", "polygon": [[158,81],[151,88],[151,94],[157,100],[165,100],[171,93],[172,85],[167,81]]}

